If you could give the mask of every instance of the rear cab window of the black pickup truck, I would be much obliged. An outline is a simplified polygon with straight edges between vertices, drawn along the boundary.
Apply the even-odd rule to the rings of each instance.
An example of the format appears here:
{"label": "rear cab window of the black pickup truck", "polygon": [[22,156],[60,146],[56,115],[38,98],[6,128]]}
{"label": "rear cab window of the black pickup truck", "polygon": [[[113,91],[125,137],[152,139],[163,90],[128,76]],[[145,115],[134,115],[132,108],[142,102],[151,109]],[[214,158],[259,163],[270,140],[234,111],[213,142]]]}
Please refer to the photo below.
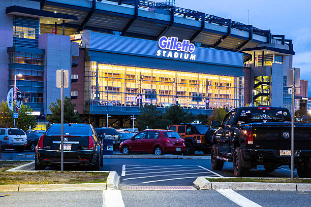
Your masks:
{"label": "rear cab window of the black pickup truck", "polygon": [[256,122],[291,122],[288,110],[270,110],[270,108],[241,110],[236,124],[249,124]]}

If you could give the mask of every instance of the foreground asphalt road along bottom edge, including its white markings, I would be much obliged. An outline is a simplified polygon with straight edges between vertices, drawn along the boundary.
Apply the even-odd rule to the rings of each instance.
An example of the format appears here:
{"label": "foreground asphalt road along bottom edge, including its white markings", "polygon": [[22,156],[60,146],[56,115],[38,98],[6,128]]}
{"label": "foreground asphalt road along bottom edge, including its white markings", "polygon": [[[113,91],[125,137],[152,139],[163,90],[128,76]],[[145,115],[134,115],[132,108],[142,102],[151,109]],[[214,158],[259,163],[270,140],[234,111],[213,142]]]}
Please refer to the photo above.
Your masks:
{"label": "foreground asphalt road along bottom edge, including its white markings", "polygon": [[61,191],[0,192],[0,206],[299,206],[311,203],[311,192],[304,191]]}

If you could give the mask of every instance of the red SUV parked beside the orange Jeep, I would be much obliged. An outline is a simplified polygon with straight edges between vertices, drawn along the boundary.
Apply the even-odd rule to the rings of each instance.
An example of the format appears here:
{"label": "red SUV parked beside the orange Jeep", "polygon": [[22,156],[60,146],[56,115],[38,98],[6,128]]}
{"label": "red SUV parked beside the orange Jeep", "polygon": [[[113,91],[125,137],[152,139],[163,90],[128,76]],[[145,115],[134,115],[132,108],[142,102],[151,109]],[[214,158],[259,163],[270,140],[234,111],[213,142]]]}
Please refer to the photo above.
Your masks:
{"label": "red SUV parked beside the orange Jeep", "polygon": [[181,154],[185,148],[183,139],[176,131],[147,129],[122,142],[119,151],[123,154],[136,152],[161,155]]}

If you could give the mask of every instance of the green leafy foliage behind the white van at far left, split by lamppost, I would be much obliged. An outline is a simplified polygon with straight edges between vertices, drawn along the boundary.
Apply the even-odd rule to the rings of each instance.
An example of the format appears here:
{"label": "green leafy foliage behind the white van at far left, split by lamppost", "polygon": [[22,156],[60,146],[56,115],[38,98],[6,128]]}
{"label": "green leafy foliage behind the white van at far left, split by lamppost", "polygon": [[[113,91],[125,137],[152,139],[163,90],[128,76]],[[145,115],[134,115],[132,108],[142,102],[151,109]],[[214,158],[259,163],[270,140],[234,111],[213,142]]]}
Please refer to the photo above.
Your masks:
{"label": "green leafy foliage behind the white van at far left, split by lamppost", "polygon": [[[33,109],[21,105],[18,111],[18,119],[15,120],[15,126],[24,131],[37,126],[36,117],[31,115]],[[9,109],[7,101],[0,103],[0,127],[13,127],[13,112]]]}

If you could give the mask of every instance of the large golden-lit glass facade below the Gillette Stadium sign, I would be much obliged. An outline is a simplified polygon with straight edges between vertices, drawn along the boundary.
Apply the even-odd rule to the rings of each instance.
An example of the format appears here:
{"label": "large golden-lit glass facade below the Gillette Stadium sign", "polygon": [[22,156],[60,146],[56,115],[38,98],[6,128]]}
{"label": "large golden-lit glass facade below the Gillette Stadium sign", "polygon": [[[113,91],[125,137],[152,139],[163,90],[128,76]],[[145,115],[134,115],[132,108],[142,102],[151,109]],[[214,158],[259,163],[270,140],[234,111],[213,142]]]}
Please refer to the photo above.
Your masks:
{"label": "large golden-lit glass facade below the Gillette Stadium sign", "polygon": [[85,106],[232,109],[243,106],[244,77],[85,62]]}

